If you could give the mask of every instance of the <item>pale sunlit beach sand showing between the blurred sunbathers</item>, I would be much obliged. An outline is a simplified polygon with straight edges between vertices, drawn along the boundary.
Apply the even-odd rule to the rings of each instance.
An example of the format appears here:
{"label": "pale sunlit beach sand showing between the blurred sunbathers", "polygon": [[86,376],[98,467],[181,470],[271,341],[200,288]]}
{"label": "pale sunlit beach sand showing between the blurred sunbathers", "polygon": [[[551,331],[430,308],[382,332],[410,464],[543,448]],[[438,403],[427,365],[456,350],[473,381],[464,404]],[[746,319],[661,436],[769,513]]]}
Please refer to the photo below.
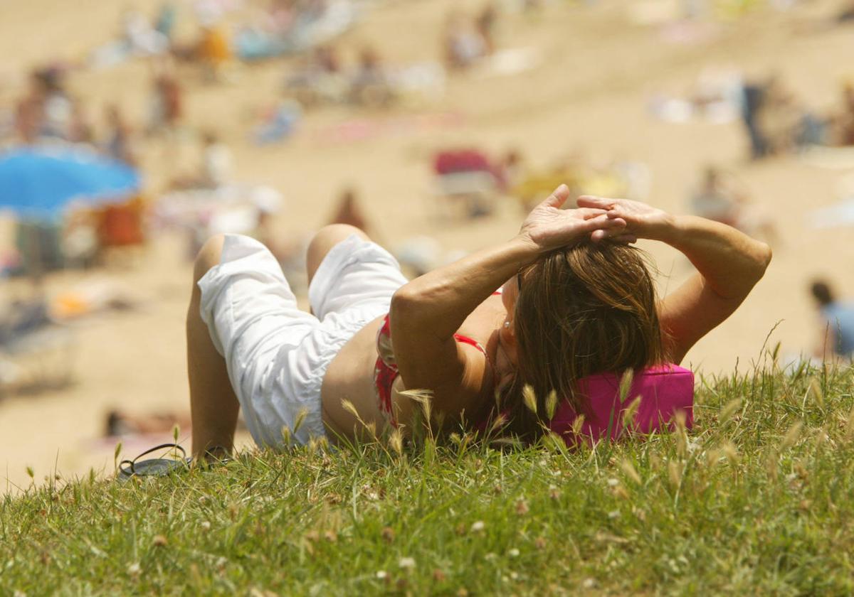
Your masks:
{"label": "pale sunlit beach sand showing between the blurred sunbathers", "polygon": [[[57,54],[79,57],[114,32],[121,3],[0,0],[0,100],[16,93],[16,69]],[[157,2],[137,3],[155,9]],[[342,39],[348,56],[372,43],[393,64],[435,59],[439,32],[451,7],[477,9],[481,3],[373,3],[366,20]],[[430,218],[427,156],[447,145],[479,145],[501,151],[521,149],[532,165],[545,166],[574,150],[603,158],[629,157],[652,170],[651,202],[681,211],[687,189],[709,162],[738,173],[757,203],[774,213],[783,237],[768,274],[728,322],[701,341],[687,361],[707,373],[729,371],[736,360],[745,368],[757,359],[777,322],[772,342],[783,351],[809,350],[815,320],[804,287],[814,275],[834,276],[843,293],[854,293],[848,264],[854,248],[849,230],[810,229],[807,217],[835,200],[844,171],[804,165],[798,159],[745,161],[746,139],[738,123],[665,125],[646,113],[654,90],[687,90],[705,66],[739,67],[748,74],[781,72],[811,107],[834,104],[839,81],[852,74],[842,57],[854,50],[854,30],[811,32],[816,18],[834,3],[810,3],[809,11],[752,14],[722,26],[715,38],[694,45],[664,43],[655,28],[630,25],[627,3],[602,2],[595,8],[557,2],[535,18],[508,16],[500,27],[503,47],[535,47],[544,57],[530,72],[509,78],[449,78],[446,96],[420,109],[459,113],[454,128],[377,136],[360,142],[329,142],[324,131],[357,114],[340,108],[312,113],[290,142],[254,148],[248,142],[253,110],[275,101],[281,76],[294,67],[279,61],[237,68],[231,81],[216,87],[188,84],[188,119],[215,126],[235,152],[243,181],[268,183],[286,196],[278,217],[282,235],[321,225],[336,193],[346,184],[360,189],[366,211],[383,241],[394,245],[411,235],[435,235],[449,248],[475,249],[505,239],[517,229],[518,214],[477,223],[439,225]],[[149,68],[132,62],[105,72],[81,72],[72,90],[91,99],[99,114],[108,101],[120,101],[134,122],[143,121]],[[403,113],[403,111],[400,111]],[[359,116],[383,118],[362,113]],[[182,167],[194,152],[178,151]],[[178,171],[173,154],[152,144],[143,148],[148,183],[156,191]],[[683,258],[648,246],[674,287],[690,272]],[[53,471],[85,472],[112,458],[112,446],[97,443],[105,409],[145,412],[185,409],[183,317],[190,293],[190,265],[176,239],[155,241],[130,270],[108,270],[132,287],[144,309],[80,327],[77,383],[62,391],[11,397],[0,403],[0,455],[13,484],[28,483]],[[58,275],[57,289],[81,275]],[[186,434],[186,430],[184,431]],[[139,446],[127,446],[130,452]],[[111,466],[111,465],[108,465]]]}

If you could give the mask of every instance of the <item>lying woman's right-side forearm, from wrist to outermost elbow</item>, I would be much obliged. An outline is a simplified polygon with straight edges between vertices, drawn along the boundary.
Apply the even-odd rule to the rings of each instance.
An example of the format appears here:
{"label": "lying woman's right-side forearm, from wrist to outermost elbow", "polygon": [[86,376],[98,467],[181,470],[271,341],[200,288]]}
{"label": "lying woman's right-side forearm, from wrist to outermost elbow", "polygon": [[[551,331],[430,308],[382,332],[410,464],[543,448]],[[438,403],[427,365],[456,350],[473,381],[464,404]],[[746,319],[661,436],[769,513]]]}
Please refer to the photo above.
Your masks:
{"label": "lying woman's right-side forearm, from wrist to outermost elbow", "polygon": [[771,260],[765,243],[704,217],[673,216],[654,239],[682,252],[723,299],[743,299]]}

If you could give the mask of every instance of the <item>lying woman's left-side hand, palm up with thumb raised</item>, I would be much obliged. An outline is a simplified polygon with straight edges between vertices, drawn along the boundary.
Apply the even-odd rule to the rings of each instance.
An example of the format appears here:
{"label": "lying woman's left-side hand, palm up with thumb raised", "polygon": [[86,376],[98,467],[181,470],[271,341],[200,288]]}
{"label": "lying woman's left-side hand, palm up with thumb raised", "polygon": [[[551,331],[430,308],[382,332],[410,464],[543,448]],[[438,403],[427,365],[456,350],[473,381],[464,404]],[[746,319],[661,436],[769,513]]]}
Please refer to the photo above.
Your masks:
{"label": "lying woman's left-side hand, palm up with thumb raised", "polygon": [[575,245],[588,238],[601,241],[620,239],[624,235],[626,221],[622,217],[611,217],[607,209],[599,206],[561,209],[569,196],[570,189],[565,184],[556,188],[528,214],[519,235],[534,244],[539,252]]}

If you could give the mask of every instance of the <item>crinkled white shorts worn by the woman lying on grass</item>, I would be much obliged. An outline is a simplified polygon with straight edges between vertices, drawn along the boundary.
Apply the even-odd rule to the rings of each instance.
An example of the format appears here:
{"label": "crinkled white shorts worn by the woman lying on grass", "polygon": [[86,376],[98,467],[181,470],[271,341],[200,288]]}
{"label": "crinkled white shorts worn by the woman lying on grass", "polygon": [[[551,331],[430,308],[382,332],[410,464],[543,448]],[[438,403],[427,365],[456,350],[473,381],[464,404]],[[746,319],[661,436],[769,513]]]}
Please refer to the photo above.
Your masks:
{"label": "crinkled white shorts worn by the woman lying on grass", "polygon": [[[299,310],[276,258],[247,236],[226,235],[219,265],[199,281],[202,320],[225,357],[231,387],[259,446],[325,436],[320,386],[329,363],[366,323],[389,311],[407,282],[391,254],[351,235],[333,246]],[[294,432],[301,411],[305,420]]]}

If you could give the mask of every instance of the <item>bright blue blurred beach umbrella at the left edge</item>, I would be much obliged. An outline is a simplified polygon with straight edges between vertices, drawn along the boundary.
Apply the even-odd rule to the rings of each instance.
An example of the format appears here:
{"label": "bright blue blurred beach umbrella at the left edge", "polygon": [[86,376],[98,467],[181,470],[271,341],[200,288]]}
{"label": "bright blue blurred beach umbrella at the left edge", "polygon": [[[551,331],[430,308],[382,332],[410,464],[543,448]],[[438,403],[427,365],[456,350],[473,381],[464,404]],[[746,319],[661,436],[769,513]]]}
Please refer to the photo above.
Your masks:
{"label": "bright blue blurred beach umbrella at the left edge", "polygon": [[123,200],[139,188],[131,166],[77,147],[0,152],[0,210],[27,219],[61,217],[73,205]]}

